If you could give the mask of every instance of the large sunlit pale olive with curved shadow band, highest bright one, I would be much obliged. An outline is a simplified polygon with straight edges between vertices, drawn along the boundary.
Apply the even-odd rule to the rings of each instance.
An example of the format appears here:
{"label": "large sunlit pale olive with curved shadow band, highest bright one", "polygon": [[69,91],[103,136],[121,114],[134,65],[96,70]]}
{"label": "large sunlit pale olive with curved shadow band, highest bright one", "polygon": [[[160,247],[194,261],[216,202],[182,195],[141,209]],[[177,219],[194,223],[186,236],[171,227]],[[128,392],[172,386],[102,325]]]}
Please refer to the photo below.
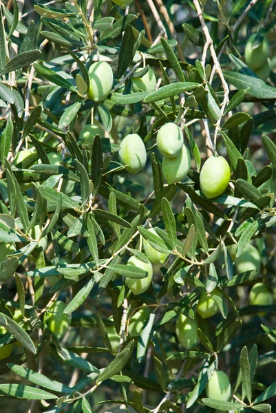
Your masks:
{"label": "large sunlit pale olive with curved shadow band, highest bright one", "polygon": [[112,67],[107,62],[95,62],[89,67],[88,74],[88,97],[95,102],[105,100],[113,86]]}

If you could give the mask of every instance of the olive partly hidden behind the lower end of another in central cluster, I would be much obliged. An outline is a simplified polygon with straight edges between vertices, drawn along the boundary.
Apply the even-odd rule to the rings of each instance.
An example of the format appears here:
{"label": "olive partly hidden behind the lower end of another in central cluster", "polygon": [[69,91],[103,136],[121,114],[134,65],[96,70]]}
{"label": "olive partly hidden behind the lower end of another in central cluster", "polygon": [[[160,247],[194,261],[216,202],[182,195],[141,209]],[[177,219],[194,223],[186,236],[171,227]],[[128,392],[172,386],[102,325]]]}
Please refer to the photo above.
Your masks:
{"label": "olive partly hidden behind the lower end of another in central cluster", "polygon": [[162,161],[162,172],[168,184],[176,184],[186,178],[191,167],[191,156],[188,148],[183,145],[176,158],[166,158]]}

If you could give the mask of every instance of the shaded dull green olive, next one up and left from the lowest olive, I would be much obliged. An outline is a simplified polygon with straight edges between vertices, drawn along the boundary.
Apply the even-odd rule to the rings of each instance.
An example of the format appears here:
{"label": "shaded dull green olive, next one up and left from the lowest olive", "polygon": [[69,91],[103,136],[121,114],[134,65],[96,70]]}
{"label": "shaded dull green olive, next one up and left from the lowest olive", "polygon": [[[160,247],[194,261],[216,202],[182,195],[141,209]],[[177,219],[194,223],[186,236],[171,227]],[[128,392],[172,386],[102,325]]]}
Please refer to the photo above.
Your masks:
{"label": "shaded dull green olive, next one up and left from the lowest olive", "polygon": [[183,347],[192,348],[200,339],[198,337],[198,323],[196,319],[189,319],[183,314],[176,319],[176,336]]}

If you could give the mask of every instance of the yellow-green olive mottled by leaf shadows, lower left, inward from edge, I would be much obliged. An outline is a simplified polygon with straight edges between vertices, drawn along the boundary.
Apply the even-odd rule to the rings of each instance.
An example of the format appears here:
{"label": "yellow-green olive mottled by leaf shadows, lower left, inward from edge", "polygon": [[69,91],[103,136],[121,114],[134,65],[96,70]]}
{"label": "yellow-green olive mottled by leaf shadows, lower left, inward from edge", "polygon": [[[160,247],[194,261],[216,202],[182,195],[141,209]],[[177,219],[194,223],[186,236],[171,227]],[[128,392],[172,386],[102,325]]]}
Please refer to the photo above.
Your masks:
{"label": "yellow-green olive mottled by leaf shadows, lower left, inward from edge", "polygon": [[71,317],[63,313],[66,304],[63,301],[55,301],[45,315],[45,322],[50,330],[58,338],[62,338],[70,327]]}

